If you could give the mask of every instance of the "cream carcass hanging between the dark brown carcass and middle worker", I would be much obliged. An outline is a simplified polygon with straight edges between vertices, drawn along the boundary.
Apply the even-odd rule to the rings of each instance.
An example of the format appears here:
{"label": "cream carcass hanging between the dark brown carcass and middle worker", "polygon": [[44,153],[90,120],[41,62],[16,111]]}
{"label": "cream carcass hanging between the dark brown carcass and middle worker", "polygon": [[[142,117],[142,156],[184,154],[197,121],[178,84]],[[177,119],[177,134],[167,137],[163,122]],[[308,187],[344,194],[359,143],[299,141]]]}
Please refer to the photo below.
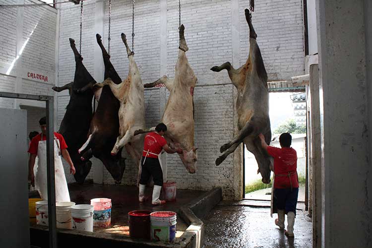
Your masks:
{"label": "cream carcass hanging between the dark brown carcass and middle worker", "polygon": [[117,156],[118,152],[125,146],[127,153],[132,157],[134,163],[139,166],[139,161],[142,157],[144,135],[134,136],[134,131],[145,127],[144,88],[137,64],[133,58],[134,53],[130,51],[125,34],[123,33],[122,40],[129,60],[127,78],[120,84],[115,84],[111,78],[108,78],[102,83],[96,83],[93,86],[101,88],[108,85],[120,102],[119,135],[115,145],[111,146],[111,155]]}

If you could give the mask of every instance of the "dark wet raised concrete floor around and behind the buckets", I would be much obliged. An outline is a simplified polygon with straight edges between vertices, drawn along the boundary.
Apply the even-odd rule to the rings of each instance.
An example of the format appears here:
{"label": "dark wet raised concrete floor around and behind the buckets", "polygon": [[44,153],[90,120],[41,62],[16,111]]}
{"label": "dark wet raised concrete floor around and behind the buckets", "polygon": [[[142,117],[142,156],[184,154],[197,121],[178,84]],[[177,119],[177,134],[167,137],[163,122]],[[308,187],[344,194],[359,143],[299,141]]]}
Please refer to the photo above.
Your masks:
{"label": "dark wet raised concrete floor around and behind the buckets", "polygon": [[[196,197],[205,193],[199,190],[177,189],[177,201],[169,201],[162,206],[152,206],[151,200],[145,203],[138,202],[138,188],[136,186],[123,185],[96,185],[87,184],[78,185],[76,183],[69,184],[71,201],[76,204],[90,204],[92,198],[111,198],[111,227],[110,228],[94,228],[95,233],[121,234],[129,236],[128,228],[128,212],[132,210],[150,210],[150,211],[174,211],[177,212],[181,206],[191,202]],[[152,188],[146,188],[146,195],[151,199]],[[188,225],[179,217],[177,217],[177,234],[176,238],[180,237],[186,230]]]}

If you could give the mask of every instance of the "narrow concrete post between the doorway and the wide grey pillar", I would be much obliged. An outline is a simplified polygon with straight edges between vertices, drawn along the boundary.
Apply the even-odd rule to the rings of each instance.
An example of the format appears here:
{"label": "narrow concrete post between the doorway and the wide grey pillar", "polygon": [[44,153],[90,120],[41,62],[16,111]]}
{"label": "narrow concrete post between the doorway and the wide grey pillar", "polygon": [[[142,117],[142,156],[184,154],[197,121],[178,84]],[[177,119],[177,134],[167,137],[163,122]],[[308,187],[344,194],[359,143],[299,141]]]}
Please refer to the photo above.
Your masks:
{"label": "narrow concrete post between the doorway and the wide grey pillar", "polygon": [[[310,65],[310,136],[312,167],[312,247],[321,248],[321,161],[318,64]],[[310,149],[309,149],[310,153]]]}

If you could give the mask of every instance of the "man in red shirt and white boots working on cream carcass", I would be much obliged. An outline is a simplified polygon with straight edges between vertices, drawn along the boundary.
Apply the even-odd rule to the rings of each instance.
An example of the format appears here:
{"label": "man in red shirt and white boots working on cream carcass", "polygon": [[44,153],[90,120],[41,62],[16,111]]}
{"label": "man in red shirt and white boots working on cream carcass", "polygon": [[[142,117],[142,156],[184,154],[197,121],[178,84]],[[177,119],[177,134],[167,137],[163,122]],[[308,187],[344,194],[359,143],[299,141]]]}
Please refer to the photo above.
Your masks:
{"label": "man in red shirt and white boots working on cream carcass", "polygon": [[145,196],[145,187],[150,176],[154,179],[154,189],[152,190],[152,204],[160,205],[165,204],[165,200],[160,200],[160,191],[163,186],[163,171],[161,168],[161,160],[159,158],[162,150],[167,153],[182,153],[181,149],[172,149],[168,146],[167,141],[163,137],[167,131],[167,126],[160,123],[155,127],[154,132],[146,134],[142,160],[141,160],[141,177],[139,180],[139,202],[144,202],[147,197]]}

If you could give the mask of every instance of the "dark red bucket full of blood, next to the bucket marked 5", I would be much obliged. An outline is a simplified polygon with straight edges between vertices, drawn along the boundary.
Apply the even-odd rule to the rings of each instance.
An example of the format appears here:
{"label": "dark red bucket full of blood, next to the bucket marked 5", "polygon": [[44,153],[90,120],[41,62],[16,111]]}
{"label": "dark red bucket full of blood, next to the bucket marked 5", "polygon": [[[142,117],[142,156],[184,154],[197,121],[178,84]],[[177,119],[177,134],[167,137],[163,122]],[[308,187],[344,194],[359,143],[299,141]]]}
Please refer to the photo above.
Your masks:
{"label": "dark red bucket full of blood, next to the bucket marked 5", "polygon": [[130,238],[150,239],[151,211],[135,210],[128,213]]}

